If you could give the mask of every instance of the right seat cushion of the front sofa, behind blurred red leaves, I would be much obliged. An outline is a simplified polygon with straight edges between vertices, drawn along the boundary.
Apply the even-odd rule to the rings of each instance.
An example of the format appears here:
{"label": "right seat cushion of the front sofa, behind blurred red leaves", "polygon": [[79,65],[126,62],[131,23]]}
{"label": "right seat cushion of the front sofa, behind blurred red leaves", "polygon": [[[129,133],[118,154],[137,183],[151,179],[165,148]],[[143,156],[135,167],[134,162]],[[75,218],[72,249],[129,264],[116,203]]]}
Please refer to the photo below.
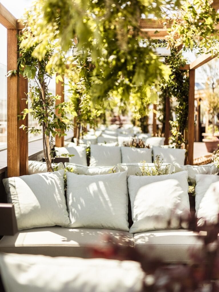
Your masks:
{"label": "right seat cushion of the front sofa, behind blurred red leaves", "polygon": [[[190,254],[201,252],[201,235],[185,230],[153,230],[134,234],[134,246],[147,257],[156,257],[166,263],[194,263]],[[204,235],[204,234],[203,234]]]}

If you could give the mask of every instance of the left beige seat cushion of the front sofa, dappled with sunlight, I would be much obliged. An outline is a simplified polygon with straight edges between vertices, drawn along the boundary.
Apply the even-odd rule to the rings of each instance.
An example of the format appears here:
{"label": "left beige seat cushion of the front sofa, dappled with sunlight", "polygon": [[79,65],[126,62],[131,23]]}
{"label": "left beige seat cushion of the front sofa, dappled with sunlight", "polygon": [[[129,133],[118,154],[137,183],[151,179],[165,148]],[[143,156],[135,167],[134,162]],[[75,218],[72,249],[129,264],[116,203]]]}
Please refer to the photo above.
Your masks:
{"label": "left beige seat cushion of the front sofa, dappled with sunlight", "polygon": [[111,248],[110,237],[120,245],[133,246],[133,234],[128,231],[54,226],[23,230],[14,236],[4,236],[0,241],[0,252],[91,258],[92,252],[89,248]]}

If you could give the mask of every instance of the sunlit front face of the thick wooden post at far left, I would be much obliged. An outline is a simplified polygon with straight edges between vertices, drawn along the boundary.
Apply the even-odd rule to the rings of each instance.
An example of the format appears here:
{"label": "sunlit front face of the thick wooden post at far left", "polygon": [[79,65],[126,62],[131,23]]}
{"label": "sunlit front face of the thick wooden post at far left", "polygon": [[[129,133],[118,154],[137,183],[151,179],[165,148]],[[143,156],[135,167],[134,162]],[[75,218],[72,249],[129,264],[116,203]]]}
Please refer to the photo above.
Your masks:
{"label": "sunlit front face of the thick wooden post at far left", "polygon": [[[18,42],[17,29],[7,30],[7,71],[17,70]],[[19,80],[17,74],[7,79],[7,174],[8,177],[20,175],[19,143]]]}

